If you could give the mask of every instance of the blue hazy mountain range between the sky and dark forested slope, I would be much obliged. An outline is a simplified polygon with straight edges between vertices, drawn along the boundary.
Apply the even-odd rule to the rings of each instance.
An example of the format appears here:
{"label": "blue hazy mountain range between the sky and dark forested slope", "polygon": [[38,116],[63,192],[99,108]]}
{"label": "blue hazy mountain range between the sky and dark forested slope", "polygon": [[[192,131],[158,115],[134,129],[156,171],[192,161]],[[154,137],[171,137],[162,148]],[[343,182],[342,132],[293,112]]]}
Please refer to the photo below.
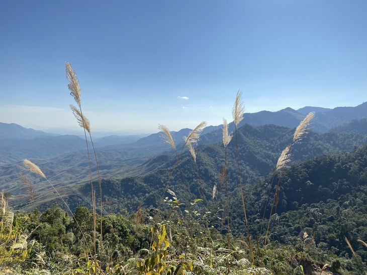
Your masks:
{"label": "blue hazy mountain range between the sky and dark forested slope", "polygon": [[[240,150],[243,158],[241,166],[246,171],[245,180],[250,182],[263,177],[274,167],[279,154],[290,142],[294,127],[310,111],[315,112],[311,124],[312,132],[304,141],[307,146],[295,148],[294,160],[309,159],[326,153],[349,152],[367,142],[367,102],[356,107],[334,109],[304,107],[298,110],[285,108],[277,112],[245,113],[239,125]],[[233,122],[229,124],[229,128],[233,130]],[[182,137],[187,136],[190,131],[191,129],[185,128],[172,132],[178,151],[183,145]],[[221,141],[222,125],[204,128],[197,150],[202,156],[215,152],[217,156],[213,157],[218,161],[215,164],[212,161],[204,162],[203,169],[220,171],[224,158]],[[105,136],[96,139],[95,147],[103,178],[133,178],[161,173],[159,169],[164,169],[167,162],[173,165],[170,160],[173,150],[164,143],[161,133],[143,137]],[[235,154],[234,145],[229,145],[229,148],[232,148],[229,153]],[[85,140],[81,137],[27,129],[14,123],[0,123],[0,189],[11,192],[14,198],[19,200],[15,207],[26,203],[24,198],[19,197],[24,194],[24,187],[19,184],[19,174],[25,171],[21,165],[22,159],[25,158],[39,165],[55,186],[70,187],[64,189],[66,193],[73,190],[72,186],[88,181]],[[96,170],[95,167],[92,169]],[[208,179],[215,181],[216,176],[209,174]],[[37,185],[38,192],[47,192],[43,193],[40,203],[47,196],[54,197],[49,193],[47,184],[37,177],[31,177]]]}

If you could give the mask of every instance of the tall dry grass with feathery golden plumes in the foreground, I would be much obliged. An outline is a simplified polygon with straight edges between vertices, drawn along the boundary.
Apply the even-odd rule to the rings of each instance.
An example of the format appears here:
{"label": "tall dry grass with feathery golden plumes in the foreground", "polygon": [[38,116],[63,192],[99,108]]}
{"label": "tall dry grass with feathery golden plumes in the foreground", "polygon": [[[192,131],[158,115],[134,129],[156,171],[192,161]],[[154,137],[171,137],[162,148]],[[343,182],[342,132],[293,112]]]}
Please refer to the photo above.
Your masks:
{"label": "tall dry grass with feathery golden plumes in the foreground", "polygon": [[[300,123],[296,128],[293,136],[293,140],[290,145],[288,145],[282,154],[280,155],[277,165],[274,168],[273,177],[271,183],[269,184],[269,190],[267,192],[267,200],[264,206],[264,212],[262,216],[262,222],[257,236],[252,236],[249,230],[249,222],[246,211],[246,201],[245,201],[245,185],[242,180],[242,173],[240,167],[239,158],[239,139],[238,139],[238,125],[243,119],[244,114],[244,104],[242,102],[242,93],[237,92],[235,103],[232,109],[233,121],[234,121],[234,134],[228,132],[227,120],[223,119],[223,147],[224,147],[224,164],[223,169],[220,173],[221,185],[225,184],[225,205],[227,221],[227,235],[222,240],[222,236],[216,232],[213,227],[209,225],[212,224],[212,220],[216,219],[217,213],[211,213],[208,210],[207,198],[204,194],[203,181],[200,175],[199,165],[197,163],[197,158],[200,155],[196,153],[195,146],[200,138],[200,133],[206,126],[206,122],[203,121],[197,125],[193,131],[189,133],[187,137],[184,138],[184,146],[178,152],[176,149],[175,142],[169,129],[164,125],[159,125],[159,129],[162,132],[163,140],[172,147],[175,154],[175,164],[171,169],[170,175],[167,178],[165,186],[163,188],[162,195],[160,197],[160,202],[158,205],[158,211],[156,215],[150,222],[150,243],[149,249],[139,251],[133,257],[130,257],[125,262],[118,262],[115,265],[112,263],[106,264],[104,258],[106,257],[104,253],[104,216],[103,216],[103,194],[102,194],[102,184],[101,176],[99,171],[99,164],[97,159],[96,150],[93,143],[93,138],[91,135],[91,127],[89,120],[85,117],[82,112],[81,106],[81,89],[79,81],[73,71],[71,65],[66,63],[66,75],[69,80],[68,88],[70,94],[73,96],[76,106],[70,105],[71,111],[76,117],[76,121],[80,127],[83,128],[87,159],[89,164],[89,181],[90,181],[90,192],[91,192],[91,205],[92,205],[92,215],[93,215],[93,247],[90,248],[84,230],[75,218],[74,213],[70,210],[68,204],[65,202],[62,195],[54,187],[54,185],[47,179],[46,175],[41,171],[41,169],[29,160],[24,160],[24,165],[29,169],[29,171],[38,174],[42,177],[57,193],[58,197],[62,200],[65,207],[68,209],[70,215],[74,219],[79,232],[81,234],[82,242],[87,247],[85,253],[85,258],[74,259],[69,257],[70,255],[65,253],[63,255],[67,256],[67,268],[70,274],[271,274],[272,271],[269,266],[266,266],[264,259],[268,260],[269,253],[272,253],[274,249],[267,246],[267,237],[270,230],[270,220],[274,213],[277,212],[277,205],[279,201],[279,190],[281,177],[284,170],[291,158],[291,151],[295,144],[299,143],[302,138],[308,132],[308,126],[313,118],[313,113],[310,113],[306,118]],[[228,192],[228,156],[227,147],[229,143],[234,141],[236,144],[236,173],[238,175],[238,185],[240,189],[240,196],[244,214],[245,230],[242,237],[235,239],[233,236],[231,238],[231,224],[230,224],[230,205],[229,205],[229,192]],[[89,143],[91,144],[91,149],[89,148]],[[188,150],[192,156],[196,167],[196,174],[198,177],[198,183],[200,185],[200,195],[201,198],[197,198],[194,201],[190,201],[188,182],[186,180],[186,175],[181,167],[181,155],[184,150]],[[93,151],[90,153],[90,151]],[[98,171],[98,183],[99,183],[99,196],[100,196],[100,231],[97,233],[97,204],[96,204],[96,190],[94,187],[93,171],[91,168],[91,158],[94,156],[94,161],[97,166]],[[176,194],[169,189],[169,183],[172,179],[175,169],[179,169],[179,175],[181,177],[182,189],[184,190],[185,198],[184,202],[180,201]],[[278,175],[278,177],[276,177]],[[21,176],[24,185],[27,187],[30,198],[33,200],[35,197],[35,191],[32,183],[25,177]],[[271,194],[274,181],[277,179],[275,191]],[[217,184],[214,184],[211,200],[214,201],[216,197]],[[166,197],[167,193],[172,199]],[[270,199],[271,198],[271,199]],[[209,199],[210,200],[210,199]],[[263,231],[262,225],[265,223],[265,210],[270,204],[270,215],[267,220],[266,231]],[[164,212],[165,205],[169,205],[168,214]],[[11,214],[7,210],[6,200],[4,194],[1,197],[1,219],[0,219],[0,252],[2,252],[2,257],[0,257],[0,268],[7,266],[7,262],[13,257],[17,260],[26,260],[30,257],[29,251],[24,249],[22,244],[27,244],[27,235],[22,235],[21,231],[12,227],[12,222],[10,222]],[[218,210],[220,211],[220,210]],[[163,213],[163,214],[162,214]],[[135,214],[133,220],[133,226],[131,230],[135,232],[144,232],[146,228],[145,225],[141,224],[144,217],[144,209],[139,205],[139,208]],[[187,221],[186,221],[187,220]],[[202,228],[205,228],[205,234],[201,232]],[[145,232],[146,233],[146,232]],[[98,234],[100,238],[98,239]],[[106,236],[106,234],[105,234]],[[255,238],[254,238],[255,237]],[[254,241],[256,239],[256,243]],[[246,241],[245,241],[246,240]],[[79,240],[80,241],[80,240]],[[305,238],[304,240],[305,241]],[[353,248],[351,247],[349,241],[345,238],[348,246],[350,247],[353,254],[355,254]],[[362,240],[358,240],[363,245],[366,245]],[[309,242],[309,244],[312,240]],[[109,241],[107,241],[109,245]],[[308,246],[308,245],[306,245]],[[366,245],[367,246],[367,245]],[[7,248],[5,248],[7,247]],[[9,248],[10,247],[10,248]],[[226,247],[226,248],[224,248]],[[4,249],[5,248],[5,249]],[[307,249],[309,247],[306,247]],[[3,249],[3,250],[1,250]],[[17,250],[18,249],[18,250]],[[19,250],[20,249],[20,250]],[[303,248],[302,248],[303,249]],[[303,249],[303,250],[307,250]],[[99,251],[98,251],[99,250]],[[28,251],[22,253],[21,255],[16,255],[19,251]],[[267,252],[269,251],[269,252]],[[147,252],[146,254],[144,254]],[[259,256],[260,255],[260,256]],[[64,256],[66,258],[66,256]],[[71,260],[72,258],[72,260]],[[249,258],[251,260],[249,260]],[[259,259],[260,258],[260,259]],[[78,266],[76,266],[76,262]],[[111,261],[112,262],[112,261]],[[320,274],[328,267],[325,264],[321,270]],[[3,269],[5,270],[5,269]]]}

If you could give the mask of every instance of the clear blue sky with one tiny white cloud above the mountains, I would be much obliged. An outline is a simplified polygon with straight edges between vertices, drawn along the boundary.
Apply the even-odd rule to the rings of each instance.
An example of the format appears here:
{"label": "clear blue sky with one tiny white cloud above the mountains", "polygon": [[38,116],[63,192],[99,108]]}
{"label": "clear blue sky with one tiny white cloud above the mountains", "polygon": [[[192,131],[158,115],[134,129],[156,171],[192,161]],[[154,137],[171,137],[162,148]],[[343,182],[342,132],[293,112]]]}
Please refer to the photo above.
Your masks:
{"label": "clear blue sky with one tiny white cloud above the mountains", "polygon": [[[0,2],[0,122],[157,132],[246,112],[367,101],[367,1]],[[36,127],[35,127],[36,128]]]}

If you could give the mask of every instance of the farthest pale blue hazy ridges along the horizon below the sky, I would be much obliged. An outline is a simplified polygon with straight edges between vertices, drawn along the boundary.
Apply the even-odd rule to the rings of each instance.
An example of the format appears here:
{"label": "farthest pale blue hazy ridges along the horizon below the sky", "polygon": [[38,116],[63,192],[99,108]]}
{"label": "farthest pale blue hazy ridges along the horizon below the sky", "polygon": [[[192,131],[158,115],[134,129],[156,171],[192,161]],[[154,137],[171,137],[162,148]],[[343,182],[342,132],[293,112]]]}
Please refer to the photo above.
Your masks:
{"label": "farthest pale blue hazy ridges along the horizon below the sky", "polygon": [[[311,128],[314,131],[326,132],[350,120],[367,118],[367,102],[355,107],[336,107],[334,109],[307,106],[298,110],[285,108],[277,112],[260,111],[256,113],[245,113],[243,120],[240,122],[240,126],[248,123],[252,125],[274,124],[294,128],[305,117],[308,111],[316,111]],[[220,141],[221,136],[219,133],[221,128],[222,125],[205,127],[202,136],[205,136],[207,133],[216,132],[217,137],[213,137],[211,140],[203,137],[203,142]],[[229,129],[233,131],[233,122],[229,123]],[[172,131],[175,143],[181,144],[182,137],[187,136],[190,131],[191,129],[188,128],[181,129],[177,132]],[[41,138],[41,136],[48,137]],[[0,141],[2,141],[0,150],[3,149],[0,152],[2,153],[0,163],[15,162],[22,158],[49,158],[83,149],[83,147],[79,147],[81,141],[74,135],[59,136],[31,128],[27,129],[14,123],[0,123]],[[31,142],[27,142],[27,140]],[[149,148],[154,154],[160,154],[170,150],[169,146],[162,141],[161,133],[159,132],[145,137],[141,137],[140,135],[105,136],[96,139],[95,145],[98,148],[110,150],[145,150]]]}

